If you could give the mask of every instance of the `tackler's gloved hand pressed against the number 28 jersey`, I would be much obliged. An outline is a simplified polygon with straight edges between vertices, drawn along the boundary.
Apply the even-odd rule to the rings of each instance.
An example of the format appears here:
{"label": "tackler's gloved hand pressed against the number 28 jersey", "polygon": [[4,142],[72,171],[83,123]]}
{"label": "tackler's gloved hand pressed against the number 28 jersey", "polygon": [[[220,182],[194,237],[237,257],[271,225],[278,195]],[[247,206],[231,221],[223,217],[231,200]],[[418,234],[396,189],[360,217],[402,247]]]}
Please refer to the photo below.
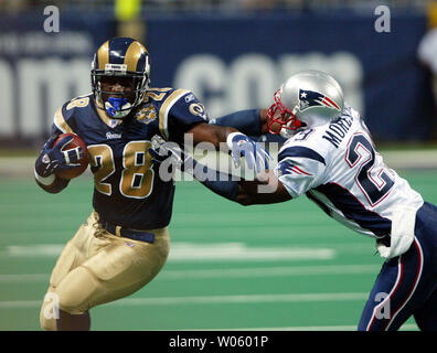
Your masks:
{"label": "tackler's gloved hand pressed against the number 28 jersey", "polygon": [[175,142],[167,142],[158,135],[154,135],[151,139],[149,153],[157,163],[162,163],[170,158],[170,163],[181,171],[193,169],[193,157],[188,151],[182,150]]}

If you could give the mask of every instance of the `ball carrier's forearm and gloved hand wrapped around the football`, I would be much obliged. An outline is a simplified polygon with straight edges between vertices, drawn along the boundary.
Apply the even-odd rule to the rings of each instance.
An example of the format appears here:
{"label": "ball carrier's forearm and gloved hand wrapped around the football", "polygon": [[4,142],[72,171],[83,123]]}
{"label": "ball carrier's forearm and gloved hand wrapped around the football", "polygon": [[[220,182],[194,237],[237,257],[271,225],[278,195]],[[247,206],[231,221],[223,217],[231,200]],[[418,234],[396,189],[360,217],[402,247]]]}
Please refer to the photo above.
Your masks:
{"label": "ball carrier's forearm and gloved hand wrapped around the football", "polygon": [[76,162],[82,157],[82,149],[65,150],[73,138],[64,137],[58,143],[54,143],[57,136],[51,136],[44,143],[40,156],[35,161],[34,175],[36,184],[50,193],[58,193],[64,190],[70,180],[58,178],[56,171],[77,167]]}

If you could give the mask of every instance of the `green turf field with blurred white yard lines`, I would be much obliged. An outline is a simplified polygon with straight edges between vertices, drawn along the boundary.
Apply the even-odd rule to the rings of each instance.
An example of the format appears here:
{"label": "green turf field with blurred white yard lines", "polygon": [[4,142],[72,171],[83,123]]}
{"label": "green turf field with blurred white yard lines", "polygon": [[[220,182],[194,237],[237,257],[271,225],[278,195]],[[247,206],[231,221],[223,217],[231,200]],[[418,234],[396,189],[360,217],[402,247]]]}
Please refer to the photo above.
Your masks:
{"label": "green turf field with blurred white yard lines", "polygon": [[[437,203],[435,170],[399,174]],[[0,180],[0,330],[40,329],[51,269],[92,188],[82,176],[51,195],[30,178]],[[178,182],[170,232],[161,274],[94,308],[93,330],[354,330],[382,264],[372,239],[306,199],[243,207],[196,182]]]}

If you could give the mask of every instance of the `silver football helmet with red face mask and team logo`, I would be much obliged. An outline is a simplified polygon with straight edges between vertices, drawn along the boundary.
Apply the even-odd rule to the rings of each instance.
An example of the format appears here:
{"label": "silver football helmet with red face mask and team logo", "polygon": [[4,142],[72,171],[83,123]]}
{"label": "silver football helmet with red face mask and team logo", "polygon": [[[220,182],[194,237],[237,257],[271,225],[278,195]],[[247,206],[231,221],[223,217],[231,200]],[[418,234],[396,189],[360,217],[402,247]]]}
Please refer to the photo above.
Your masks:
{"label": "silver football helmet with red face mask and team logo", "polygon": [[[271,133],[288,138],[302,127],[323,125],[337,118],[344,108],[343,92],[330,75],[308,69],[289,77],[275,93],[267,111]],[[280,125],[271,130],[275,124]]]}

